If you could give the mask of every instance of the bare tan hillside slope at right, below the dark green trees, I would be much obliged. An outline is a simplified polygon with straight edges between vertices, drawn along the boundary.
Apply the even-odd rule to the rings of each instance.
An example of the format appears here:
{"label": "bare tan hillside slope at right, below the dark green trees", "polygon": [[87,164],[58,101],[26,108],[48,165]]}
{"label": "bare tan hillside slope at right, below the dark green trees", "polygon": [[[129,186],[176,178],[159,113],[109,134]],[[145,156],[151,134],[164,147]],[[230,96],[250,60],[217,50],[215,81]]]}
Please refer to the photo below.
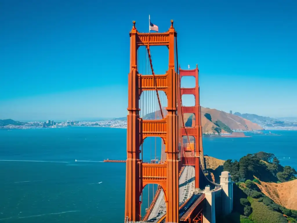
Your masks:
{"label": "bare tan hillside slope at right, below the dark green trees", "polygon": [[260,184],[256,184],[263,194],[270,197],[277,204],[288,209],[297,210],[297,180],[284,183],[266,183],[260,181]]}

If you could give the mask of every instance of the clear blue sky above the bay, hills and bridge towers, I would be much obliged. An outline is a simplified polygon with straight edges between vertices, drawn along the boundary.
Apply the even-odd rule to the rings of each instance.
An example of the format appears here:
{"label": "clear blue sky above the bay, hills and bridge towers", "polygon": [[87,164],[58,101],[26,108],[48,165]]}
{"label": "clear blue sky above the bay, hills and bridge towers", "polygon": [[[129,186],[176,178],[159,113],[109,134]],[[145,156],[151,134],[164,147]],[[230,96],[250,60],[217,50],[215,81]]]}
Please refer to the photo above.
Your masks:
{"label": "clear blue sky above the bay, hills and bridge towers", "polygon": [[[159,32],[174,20],[178,62],[199,65],[202,106],[297,116],[296,10],[295,0],[2,0],[0,119],[127,115],[129,31],[135,20],[148,32],[149,14]],[[151,51],[164,73],[167,48]]]}

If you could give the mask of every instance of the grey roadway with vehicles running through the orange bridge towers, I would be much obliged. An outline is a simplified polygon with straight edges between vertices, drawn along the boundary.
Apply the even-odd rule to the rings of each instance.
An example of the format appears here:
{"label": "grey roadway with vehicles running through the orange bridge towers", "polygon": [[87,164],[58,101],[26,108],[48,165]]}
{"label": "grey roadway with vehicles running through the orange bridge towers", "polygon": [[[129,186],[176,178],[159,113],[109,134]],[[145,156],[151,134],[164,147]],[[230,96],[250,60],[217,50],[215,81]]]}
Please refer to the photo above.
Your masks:
{"label": "grey roadway with vehicles running through the orange bridge towers", "polygon": [[[192,192],[195,190],[195,168],[192,166],[186,166],[179,177],[178,183],[179,206],[181,206],[191,197]],[[146,222],[157,222],[164,214],[166,214],[166,203],[164,191],[162,190]]]}

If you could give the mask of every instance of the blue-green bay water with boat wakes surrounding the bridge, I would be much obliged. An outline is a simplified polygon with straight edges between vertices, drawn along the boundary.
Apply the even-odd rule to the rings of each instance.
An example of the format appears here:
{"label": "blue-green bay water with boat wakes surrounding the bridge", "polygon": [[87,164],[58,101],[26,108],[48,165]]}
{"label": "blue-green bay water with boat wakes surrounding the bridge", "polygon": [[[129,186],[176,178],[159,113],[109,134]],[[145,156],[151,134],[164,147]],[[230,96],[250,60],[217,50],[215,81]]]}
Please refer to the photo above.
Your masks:
{"label": "blue-green bay water with boat wakes surrounding the bridge", "polygon": [[[225,160],[265,151],[297,169],[297,131],[271,133],[280,136],[204,138],[204,153]],[[102,161],[125,160],[126,139],[119,128],[0,129],[0,223],[122,222],[125,163]]]}

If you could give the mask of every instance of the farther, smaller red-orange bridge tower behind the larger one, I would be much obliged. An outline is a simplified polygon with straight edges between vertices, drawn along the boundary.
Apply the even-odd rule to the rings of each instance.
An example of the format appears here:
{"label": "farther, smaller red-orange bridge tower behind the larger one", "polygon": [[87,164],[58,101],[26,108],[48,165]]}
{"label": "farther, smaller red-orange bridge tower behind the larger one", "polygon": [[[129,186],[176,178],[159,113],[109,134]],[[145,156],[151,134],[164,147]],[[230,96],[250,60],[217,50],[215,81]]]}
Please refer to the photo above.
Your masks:
{"label": "farther, smaller red-orange bridge tower behind the larger one", "polygon": [[[179,67],[179,77],[180,80],[184,76],[195,77],[195,87],[194,88],[181,88],[181,96],[185,94],[191,94],[195,96],[195,106],[182,106],[182,114],[193,113],[195,114],[195,126],[194,127],[184,127],[181,128],[181,135],[187,136],[189,141],[189,136],[194,136],[195,138],[195,188],[200,188],[200,156],[203,158],[203,146],[202,146],[202,125],[201,125],[201,106],[200,106],[200,95],[199,95],[199,69],[196,65],[194,70],[182,70]],[[190,144],[190,142],[189,142]],[[190,145],[191,146],[191,145]],[[192,150],[192,149],[191,149]],[[189,160],[185,158],[184,163]]]}

